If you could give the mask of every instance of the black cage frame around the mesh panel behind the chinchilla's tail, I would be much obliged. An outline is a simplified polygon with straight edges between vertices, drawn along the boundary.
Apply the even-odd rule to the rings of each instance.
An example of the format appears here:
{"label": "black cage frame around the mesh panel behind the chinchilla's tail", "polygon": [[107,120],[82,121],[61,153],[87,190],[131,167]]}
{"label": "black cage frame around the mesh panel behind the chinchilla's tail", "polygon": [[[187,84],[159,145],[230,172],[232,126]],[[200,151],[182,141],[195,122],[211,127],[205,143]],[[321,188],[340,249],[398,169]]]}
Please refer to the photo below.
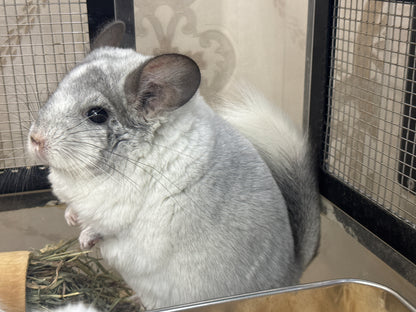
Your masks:
{"label": "black cage frame around the mesh panel behind the chinchilla's tail", "polygon": [[[389,0],[382,0],[389,1]],[[390,0],[398,1],[398,0]],[[414,3],[413,1],[400,1],[406,3]],[[334,203],[338,208],[345,212],[349,217],[358,222],[359,227],[371,232],[376,239],[367,240],[363,235],[358,235],[358,239],[373,253],[375,253],[384,262],[389,264],[400,275],[404,276],[412,284],[416,285],[416,229],[396,217],[386,209],[383,209],[375,202],[369,200],[363,195],[351,189],[343,181],[334,178],[324,170],[325,159],[324,149],[327,146],[325,142],[325,126],[326,123],[330,123],[329,101],[330,94],[330,77],[331,75],[331,51],[334,48],[332,46],[332,38],[336,38],[336,25],[333,25],[334,14],[336,14],[337,0],[315,0],[310,1],[309,4],[309,24],[311,28],[310,33],[310,55],[307,57],[307,68],[309,67],[309,79],[307,77],[306,84],[308,88],[305,92],[305,98],[309,102],[307,109],[308,122],[307,128],[310,134],[310,140],[312,146],[315,148],[316,164],[319,172],[319,187],[321,195],[327,198],[330,202]],[[413,7],[415,8],[415,7]],[[335,10],[334,10],[335,9]],[[412,25],[412,38],[416,41],[416,21],[413,20]],[[415,41],[409,45],[410,49],[415,49]],[[413,53],[414,55],[414,53]],[[413,73],[413,59],[409,61],[411,66],[408,69],[408,77],[414,80]],[[415,82],[409,83],[407,91],[415,88]],[[412,118],[416,113],[415,103],[410,102],[410,98],[407,97],[407,101],[412,106],[408,106],[408,114],[405,117],[409,120],[406,121],[410,124]],[[414,99],[413,99],[414,101]],[[413,116],[413,117],[411,117]],[[414,124],[414,119],[413,119]],[[404,131],[404,130],[403,130]],[[403,136],[407,135],[409,140],[409,133],[402,133]],[[412,135],[412,134],[410,134]],[[414,133],[413,133],[414,139]],[[409,162],[415,161],[409,159]],[[413,163],[414,164],[414,163]],[[408,170],[409,166],[403,166],[402,170]],[[400,169],[399,169],[400,170]],[[399,182],[402,177],[397,177]],[[360,230],[359,230],[360,231]],[[357,234],[357,233],[354,233]],[[366,234],[367,235],[367,234]],[[368,235],[367,235],[368,236]],[[381,243],[377,243],[378,239],[381,239]],[[387,245],[385,245],[386,243]],[[380,252],[380,244],[384,251]],[[388,250],[387,250],[388,249]]]}

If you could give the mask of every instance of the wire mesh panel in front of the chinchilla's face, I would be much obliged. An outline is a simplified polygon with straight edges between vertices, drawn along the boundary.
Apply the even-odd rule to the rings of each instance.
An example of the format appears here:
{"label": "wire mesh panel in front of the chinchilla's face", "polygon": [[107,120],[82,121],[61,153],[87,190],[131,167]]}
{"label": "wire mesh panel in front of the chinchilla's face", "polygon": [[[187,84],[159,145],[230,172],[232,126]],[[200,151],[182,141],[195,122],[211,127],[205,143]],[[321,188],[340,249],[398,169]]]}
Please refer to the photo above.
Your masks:
{"label": "wire mesh panel in front of the chinchilla's face", "polygon": [[86,1],[0,0],[0,170],[36,165],[30,123],[88,41]]}

